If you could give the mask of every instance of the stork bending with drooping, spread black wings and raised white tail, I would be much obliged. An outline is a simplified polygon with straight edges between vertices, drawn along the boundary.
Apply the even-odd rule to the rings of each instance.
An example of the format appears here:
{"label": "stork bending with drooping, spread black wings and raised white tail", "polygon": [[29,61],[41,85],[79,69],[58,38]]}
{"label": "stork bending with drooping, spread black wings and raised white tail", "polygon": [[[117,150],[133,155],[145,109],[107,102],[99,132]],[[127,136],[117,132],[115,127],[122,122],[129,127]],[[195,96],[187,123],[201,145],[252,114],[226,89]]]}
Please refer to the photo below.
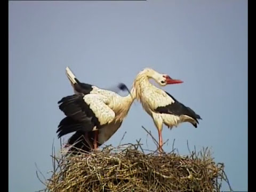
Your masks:
{"label": "stork bending with drooping, spread black wings and raised white tail", "polygon": [[[62,98],[58,102],[60,110],[67,116],[58,126],[58,137],[75,132],[67,145],[74,145],[75,148],[85,151],[96,149],[121,126],[135,99],[135,89],[130,92],[124,84],[119,84],[120,90],[130,92],[129,95],[122,97],[115,92],[79,82],[68,67],[66,74],[76,94]],[[82,140],[77,141],[79,138]],[[86,146],[84,141],[90,147]]]}

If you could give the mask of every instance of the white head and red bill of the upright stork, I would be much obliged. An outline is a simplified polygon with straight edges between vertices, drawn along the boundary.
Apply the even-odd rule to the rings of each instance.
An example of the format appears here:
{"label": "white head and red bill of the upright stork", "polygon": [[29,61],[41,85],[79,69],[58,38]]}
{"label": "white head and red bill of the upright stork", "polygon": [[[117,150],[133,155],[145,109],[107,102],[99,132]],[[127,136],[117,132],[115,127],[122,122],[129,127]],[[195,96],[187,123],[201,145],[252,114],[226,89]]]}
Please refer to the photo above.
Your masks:
{"label": "white head and red bill of the upright stork", "polygon": [[173,79],[169,75],[158,73],[154,69],[150,68],[143,69],[140,74],[146,75],[148,78],[155,79],[155,81],[161,86],[183,83],[183,81],[179,79]]}

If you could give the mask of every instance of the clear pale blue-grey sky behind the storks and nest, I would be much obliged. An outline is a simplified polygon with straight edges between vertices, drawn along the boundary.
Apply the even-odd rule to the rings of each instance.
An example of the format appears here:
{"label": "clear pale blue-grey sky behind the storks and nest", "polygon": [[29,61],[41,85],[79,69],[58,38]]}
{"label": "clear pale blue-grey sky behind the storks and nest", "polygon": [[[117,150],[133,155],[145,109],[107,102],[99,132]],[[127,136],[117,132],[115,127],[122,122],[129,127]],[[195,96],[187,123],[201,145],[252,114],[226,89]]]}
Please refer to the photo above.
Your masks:
{"label": "clear pale blue-grey sky behind the storks and nest", "polygon": [[[164,90],[201,115],[163,129],[188,154],[211,147],[231,186],[247,190],[247,1],[9,1],[9,191],[43,188],[51,147],[60,149],[57,102],[73,94],[69,66],[82,82],[102,88],[133,79],[145,67],[184,81]],[[122,93],[124,95],[125,93]],[[142,139],[151,118],[135,101],[106,145]],[[146,146],[145,146],[146,147]],[[156,149],[148,141],[148,148]],[[227,189],[224,185],[223,190]]]}

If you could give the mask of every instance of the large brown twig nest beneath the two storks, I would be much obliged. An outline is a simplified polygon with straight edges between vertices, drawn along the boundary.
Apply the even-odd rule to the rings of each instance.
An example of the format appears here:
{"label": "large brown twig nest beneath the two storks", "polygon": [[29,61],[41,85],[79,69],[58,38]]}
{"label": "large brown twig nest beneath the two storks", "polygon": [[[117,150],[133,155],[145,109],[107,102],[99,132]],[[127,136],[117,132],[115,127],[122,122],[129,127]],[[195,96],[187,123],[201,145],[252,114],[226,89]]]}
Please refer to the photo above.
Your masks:
{"label": "large brown twig nest beneath the two storks", "polygon": [[[220,191],[228,179],[209,149],[162,156],[136,145],[105,147],[78,155],[52,156],[51,179],[41,191]],[[230,188],[230,191],[231,188]]]}

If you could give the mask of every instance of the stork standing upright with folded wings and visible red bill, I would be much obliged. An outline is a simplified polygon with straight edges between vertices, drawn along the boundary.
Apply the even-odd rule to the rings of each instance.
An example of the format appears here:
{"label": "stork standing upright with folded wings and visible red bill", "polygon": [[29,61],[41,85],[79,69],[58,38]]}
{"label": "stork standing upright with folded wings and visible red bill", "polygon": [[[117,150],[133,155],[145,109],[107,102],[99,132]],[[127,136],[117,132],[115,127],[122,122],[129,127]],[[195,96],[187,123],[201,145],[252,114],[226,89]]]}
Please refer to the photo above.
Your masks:
{"label": "stork standing upright with folded wings and visible red bill", "polygon": [[[149,82],[153,78],[159,85],[183,83],[178,79],[172,79],[169,75],[160,74],[157,71],[145,68],[136,77],[134,86],[136,98],[142,103],[143,109],[153,118],[158,130],[159,151],[162,152],[162,129],[163,124],[172,129],[179,123],[189,122],[197,127],[198,119],[201,119],[192,109],[186,107],[171,94],[158,89]],[[161,154],[161,153],[160,153]]]}

